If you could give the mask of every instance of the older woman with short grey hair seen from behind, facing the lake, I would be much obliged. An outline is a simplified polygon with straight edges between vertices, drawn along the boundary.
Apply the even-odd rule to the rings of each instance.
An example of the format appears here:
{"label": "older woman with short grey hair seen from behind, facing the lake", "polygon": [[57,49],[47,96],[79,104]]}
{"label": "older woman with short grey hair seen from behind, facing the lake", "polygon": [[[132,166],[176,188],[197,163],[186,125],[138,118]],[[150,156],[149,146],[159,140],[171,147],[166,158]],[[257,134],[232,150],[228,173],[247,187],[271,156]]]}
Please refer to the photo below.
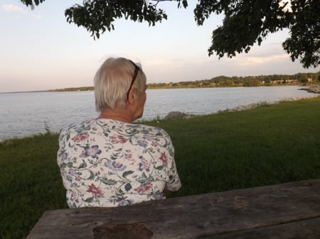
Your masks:
{"label": "older woman with short grey hair seen from behind, facing the lake", "polygon": [[165,199],[181,187],[166,131],[132,123],[145,101],[141,67],[122,57],[103,62],[95,74],[100,116],[60,133],[57,161],[70,208]]}

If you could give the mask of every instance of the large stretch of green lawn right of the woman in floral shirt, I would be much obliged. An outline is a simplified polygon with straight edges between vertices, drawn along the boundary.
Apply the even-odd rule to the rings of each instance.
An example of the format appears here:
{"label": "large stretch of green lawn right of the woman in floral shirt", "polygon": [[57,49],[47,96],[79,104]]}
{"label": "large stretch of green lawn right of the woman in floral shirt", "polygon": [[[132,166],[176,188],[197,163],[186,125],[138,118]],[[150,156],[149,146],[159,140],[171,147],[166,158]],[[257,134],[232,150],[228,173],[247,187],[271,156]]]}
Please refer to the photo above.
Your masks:
{"label": "large stretch of green lawn right of the woman in floral shirt", "polygon": [[319,97],[158,125],[176,146],[177,196],[320,177]]}

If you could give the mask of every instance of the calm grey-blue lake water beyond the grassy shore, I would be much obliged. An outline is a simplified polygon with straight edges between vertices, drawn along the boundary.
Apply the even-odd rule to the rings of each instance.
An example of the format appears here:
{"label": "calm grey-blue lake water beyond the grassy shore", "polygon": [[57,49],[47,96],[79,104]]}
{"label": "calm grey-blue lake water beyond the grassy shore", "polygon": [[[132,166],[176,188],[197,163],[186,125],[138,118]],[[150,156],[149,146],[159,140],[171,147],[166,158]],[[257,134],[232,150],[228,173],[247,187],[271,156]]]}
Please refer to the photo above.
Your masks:
{"label": "calm grey-blue lake water beyond the grassy shore", "polygon": [[[148,89],[142,119],[164,118],[170,111],[208,114],[237,106],[314,97],[299,87]],[[0,140],[58,132],[68,123],[98,115],[93,91],[0,94]]]}

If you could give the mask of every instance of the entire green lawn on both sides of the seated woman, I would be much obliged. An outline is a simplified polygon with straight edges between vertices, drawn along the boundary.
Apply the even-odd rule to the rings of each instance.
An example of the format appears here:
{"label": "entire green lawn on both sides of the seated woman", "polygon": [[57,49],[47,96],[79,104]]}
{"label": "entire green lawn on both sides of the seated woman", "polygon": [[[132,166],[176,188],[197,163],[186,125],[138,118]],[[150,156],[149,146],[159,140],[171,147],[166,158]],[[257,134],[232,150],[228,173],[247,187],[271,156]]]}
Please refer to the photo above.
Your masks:
{"label": "entire green lawn on both sides of the seated woman", "polygon": [[[171,196],[320,178],[320,97],[146,124],[174,142],[183,186]],[[26,238],[44,211],[67,207],[57,150],[50,133],[0,143],[0,238]]]}

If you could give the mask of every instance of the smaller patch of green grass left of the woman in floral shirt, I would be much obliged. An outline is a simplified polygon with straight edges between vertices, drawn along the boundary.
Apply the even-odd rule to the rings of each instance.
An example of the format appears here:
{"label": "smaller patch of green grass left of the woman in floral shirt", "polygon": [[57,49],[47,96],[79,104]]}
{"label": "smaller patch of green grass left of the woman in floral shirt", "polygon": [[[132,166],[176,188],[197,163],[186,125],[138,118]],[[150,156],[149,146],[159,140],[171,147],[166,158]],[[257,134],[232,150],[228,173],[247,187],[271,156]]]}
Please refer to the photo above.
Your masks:
{"label": "smaller patch of green grass left of the woman in floral shirt", "polygon": [[44,211],[66,206],[57,148],[50,134],[0,144],[0,238],[26,238]]}

